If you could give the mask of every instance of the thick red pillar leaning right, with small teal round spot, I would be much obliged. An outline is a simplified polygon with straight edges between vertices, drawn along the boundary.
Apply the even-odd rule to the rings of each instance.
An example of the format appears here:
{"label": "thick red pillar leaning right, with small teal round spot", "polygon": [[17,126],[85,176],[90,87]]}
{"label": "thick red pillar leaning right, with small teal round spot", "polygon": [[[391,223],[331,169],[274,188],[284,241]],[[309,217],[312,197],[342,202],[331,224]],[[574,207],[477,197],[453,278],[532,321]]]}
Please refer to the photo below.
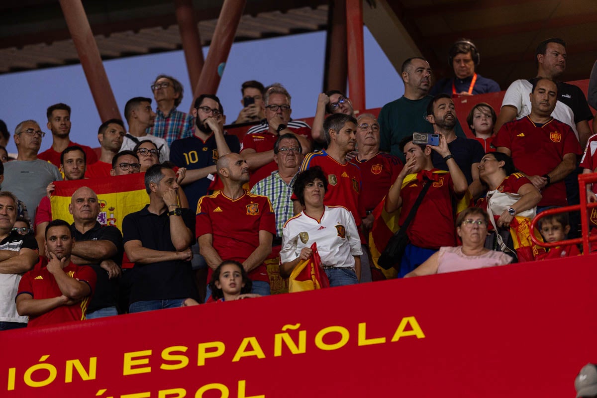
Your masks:
{"label": "thick red pillar leaning right, with small teal round spot", "polygon": [[195,97],[200,94],[216,94],[245,4],[246,0],[224,0],[207,59],[193,91]]}

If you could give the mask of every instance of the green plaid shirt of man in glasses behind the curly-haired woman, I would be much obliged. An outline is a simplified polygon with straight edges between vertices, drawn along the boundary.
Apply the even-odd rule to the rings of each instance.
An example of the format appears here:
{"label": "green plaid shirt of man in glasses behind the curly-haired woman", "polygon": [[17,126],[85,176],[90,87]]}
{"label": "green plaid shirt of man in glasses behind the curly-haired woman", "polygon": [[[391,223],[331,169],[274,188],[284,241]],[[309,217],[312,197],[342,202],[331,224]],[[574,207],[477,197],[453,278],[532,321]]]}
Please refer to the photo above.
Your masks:
{"label": "green plaid shirt of man in glasses behind the curly-haired woman", "polygon": [[293,201],[290,198],[293,196],[293,184],[297,174],[294,174],[290,184],[286,184],[276,170],[251,189],[251,193],[267,196],[272,203],[273,212],[276,214],[276,235],[278,236],[282,236],[284,224],[294,215]]}

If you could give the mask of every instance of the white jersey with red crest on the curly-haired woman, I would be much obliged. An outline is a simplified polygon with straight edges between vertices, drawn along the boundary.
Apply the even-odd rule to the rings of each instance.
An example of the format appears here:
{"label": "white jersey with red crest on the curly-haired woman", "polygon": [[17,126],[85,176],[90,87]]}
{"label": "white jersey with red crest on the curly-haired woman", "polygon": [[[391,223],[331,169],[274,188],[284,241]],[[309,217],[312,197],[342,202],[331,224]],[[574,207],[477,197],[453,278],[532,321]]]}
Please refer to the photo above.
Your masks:
{"label": "white jersey with red crest on the curly-haired woman", "polygon": [[342,206],[325,206],[321,220],[309,217],[304,211],[288,220],[282,230],[280,261],[295,260],[313,242],[317,243],[324,267],[353,268],[353,256],[363,254],[355,219]]}

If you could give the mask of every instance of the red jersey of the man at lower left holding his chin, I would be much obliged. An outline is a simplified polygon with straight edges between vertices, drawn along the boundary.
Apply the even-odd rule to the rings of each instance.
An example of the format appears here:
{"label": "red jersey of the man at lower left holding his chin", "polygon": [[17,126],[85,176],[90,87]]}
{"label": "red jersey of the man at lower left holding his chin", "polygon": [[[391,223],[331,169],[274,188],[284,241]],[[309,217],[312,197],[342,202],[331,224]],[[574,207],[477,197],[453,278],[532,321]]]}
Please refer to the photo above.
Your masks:
{"label": "red jersey of the man at lower left holding his chin", "polygon": [[[91,295],[85,297],[79,303],[73,304],[72,306],[60,306],[48,311],[45,314],[39,316],[30,316],[27,327],[56,325],[56,323],[85,319],[87,306],[91,301],[93,292],[96,290],[96,271],[94,271],[91,267],[77,266],[73,263],[70,263],[64,267],[63,271],[72,278],[87,282],[91,288]],[[17,296],[19,294],[30,294],[35,300],[38,300],[41,298],[59,297],[62,295],[62,292],[56,283],[54,275],[51,274],[46,267],[36,267],[21,277]]]}

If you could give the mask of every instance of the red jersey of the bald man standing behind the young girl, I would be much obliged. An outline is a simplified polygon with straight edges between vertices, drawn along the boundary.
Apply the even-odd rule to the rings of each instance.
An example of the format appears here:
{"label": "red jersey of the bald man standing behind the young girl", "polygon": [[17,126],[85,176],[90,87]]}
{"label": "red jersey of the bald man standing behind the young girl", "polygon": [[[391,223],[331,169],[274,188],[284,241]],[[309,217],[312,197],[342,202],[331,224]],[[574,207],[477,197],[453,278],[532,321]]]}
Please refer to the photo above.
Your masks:
{"label": "red jersey of the bald man standing behind the young girl", "polygon": [[[267,196],[245,195],[232,200],[217,191],[197,203],[196,236],[210,233],[213,246],[223,260],[247,260],[259,246],[259,231],[276,235],[276,217]],[[213,270],[210,268],[208,280]],[[269,282],[265,264],[249,273],[251,280]]]}

